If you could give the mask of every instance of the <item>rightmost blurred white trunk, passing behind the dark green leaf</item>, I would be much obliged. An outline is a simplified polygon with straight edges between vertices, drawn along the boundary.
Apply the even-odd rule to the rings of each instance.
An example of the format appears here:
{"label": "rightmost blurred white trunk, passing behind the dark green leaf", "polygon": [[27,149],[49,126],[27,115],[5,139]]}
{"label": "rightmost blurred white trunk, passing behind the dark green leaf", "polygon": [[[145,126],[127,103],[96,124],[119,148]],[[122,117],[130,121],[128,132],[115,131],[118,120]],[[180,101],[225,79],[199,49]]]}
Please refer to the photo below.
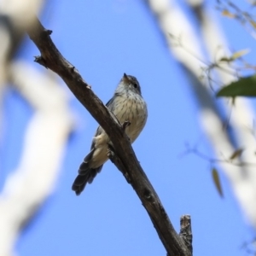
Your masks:
{"label": "rightmost blurred white trunk, passing behind the dark green leaf", "polygon": [[[192,9],[196,9],[199,24],[201,26],[201,32],[205,45],[208,49],[209,55],[212,60],[217,57],[217,49],[219,57],[224,55],[230,55],[227,49],[226,40],[218,21],[213,18],[212,12],[205,9],[201,3],[191,4]],[[222,63],[224,69],[229,69],[226,62]],[[223,84],[230,84],[230,82],[236,80],[236,77],[230,73],[226,73],[218,69],[218,76],[220,77]],[[225,105],[229,111],[231,111],[230,125],[236,132],[236,142],[238,148],[245,148],[246,150],[242,154],[242,160],[247,163],[255,162],[255,138],[253,138],[252,132],[249,128],[253,128],[253,108],[249,102],[242,98],[236,99],[236,105],[230,106]],[[217,135],[218,136],[218,135]],[[214,140],[213,142],[214,143]],[[222,150],[218,144],[215,148]],[[229,155],[227,155],[229,156]],[[230,178],[231,185],[233,186],[234,192],[238,201],[241,203],[241,207],[247,213],[251,223],[256,227],[256,172],[255,166],[242,166],[241,168],[235,168],[234,166],[224,167],[225,174]]]}

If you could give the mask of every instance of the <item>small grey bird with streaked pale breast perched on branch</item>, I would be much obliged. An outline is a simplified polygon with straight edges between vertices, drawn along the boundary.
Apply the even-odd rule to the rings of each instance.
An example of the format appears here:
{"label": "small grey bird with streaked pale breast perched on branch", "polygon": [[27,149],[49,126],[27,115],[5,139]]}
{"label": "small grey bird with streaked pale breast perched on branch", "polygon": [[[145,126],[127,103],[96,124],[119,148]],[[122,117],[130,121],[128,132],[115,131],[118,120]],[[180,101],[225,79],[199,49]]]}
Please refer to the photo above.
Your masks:
{"label": "small grey bird with streaked pale breast perched on branch", "polygon": [[[124,73],[111,100],[106,104],[108,109],[119,119],[120,124],[130,123],[125,132],[133,143],[146,124],[148,118],[147,104],[143,99],[141,87],[137,79]],[[108,160],[107,133],[99,126],[92,140],[90,153],[84,157],[79,167],[79,175],[73,182],[72,189],[80,195],[86,183],[92,183],[103,164]]]}

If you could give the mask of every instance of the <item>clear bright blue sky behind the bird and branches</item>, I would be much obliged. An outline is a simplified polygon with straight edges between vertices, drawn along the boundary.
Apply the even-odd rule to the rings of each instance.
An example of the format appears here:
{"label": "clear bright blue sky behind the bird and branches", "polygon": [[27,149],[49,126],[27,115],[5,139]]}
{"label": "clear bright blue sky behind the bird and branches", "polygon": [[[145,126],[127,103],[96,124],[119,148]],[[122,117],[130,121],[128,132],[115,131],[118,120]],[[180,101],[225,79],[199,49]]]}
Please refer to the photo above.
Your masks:
{"label": "clear bright blue sky behind the bird and branches", "polygon": [[[209,8],[214,10],[214,3]],[[231,49],[252,49],[253,38],[236,21],[216,15],[232,42]],[[180,157],[185,143],[198,143],[209,156],[212,150],[198,123],[199,109],[189,81],[169,54],[143,1],[48,1],[41,20],[53,30],[52,39],[62,55],[78,68],[102,102],[113,96],[123,73],[139,80],[148,102],[148,123],[133,148],[175,229],[179,230],[181,215],[191,215],[195,255],[244,255],[241,244],[252,239],[253,230],[229,181],[220,173],[222,199],[212,183],[210,164],[193,154]],[[237,40],[241,33],[242,40]],[[32,62],[34,55],[38,49],[26,38],[19,57],[44,70]],[[17,253],[166,255],[137,195],[111,162],[79,197],[74,195],[71,185],[97,124],[71,93],[70,106],[77,125],[67,143],[55,192],[20,234]],[[32,108],[9,89],[3,111],[1,186],[19,161]]]}

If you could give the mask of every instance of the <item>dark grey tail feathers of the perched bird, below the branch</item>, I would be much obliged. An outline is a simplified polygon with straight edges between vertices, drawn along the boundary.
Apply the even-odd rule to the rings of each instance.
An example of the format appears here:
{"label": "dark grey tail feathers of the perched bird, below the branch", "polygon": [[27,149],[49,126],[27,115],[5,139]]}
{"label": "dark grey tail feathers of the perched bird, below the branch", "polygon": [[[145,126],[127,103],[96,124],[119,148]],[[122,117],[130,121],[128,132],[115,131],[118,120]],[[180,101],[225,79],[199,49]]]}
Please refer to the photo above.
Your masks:
{"label": "dark grey tail feathers of the perched bird, below the branch", "polygon": [[[90,152],[92,154],[93,152]],[[85,158],[83,163],[79,167],[79,175],[75,178],[72,190],[75,191],[76,195],[80,195],[81,192],[84,190],[87,183],[92,183],[93,179],[96,177],[98,172],[101,172],[102,166],[97,168],[90,168],[89,167],[89,159],[90,154],[88,154]]]}

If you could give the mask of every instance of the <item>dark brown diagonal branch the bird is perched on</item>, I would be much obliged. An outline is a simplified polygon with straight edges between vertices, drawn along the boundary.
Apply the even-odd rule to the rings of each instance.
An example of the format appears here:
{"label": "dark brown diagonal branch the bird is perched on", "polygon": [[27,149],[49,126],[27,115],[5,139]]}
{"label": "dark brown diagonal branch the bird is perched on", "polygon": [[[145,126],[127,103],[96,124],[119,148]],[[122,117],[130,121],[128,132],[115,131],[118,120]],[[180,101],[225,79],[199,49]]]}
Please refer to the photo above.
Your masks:
{"label": "dark brown diagonal branch the bird is perched on", "polygon": [[90,85],[82,79],[76,68],[56,49],[49,37],[51,31],[46,30],[38,19],[35,19],[34,24],[35,26],[28,30],[28,34],[41,53],[41,56],[36,57],[35,61],[57,73],[79,102],[84,105],[84,108],[108,133],[115,148],[115,155],[113,157],[111,154],[111,158],[114,163],[115,160],[121,163],[118,165],[120,171],[129,180],[142,201],[143,207],[146,208],[168,255],[191,255],[183,239],[174,230],[158,195],[143,172],[122,125],[90,90]]}

